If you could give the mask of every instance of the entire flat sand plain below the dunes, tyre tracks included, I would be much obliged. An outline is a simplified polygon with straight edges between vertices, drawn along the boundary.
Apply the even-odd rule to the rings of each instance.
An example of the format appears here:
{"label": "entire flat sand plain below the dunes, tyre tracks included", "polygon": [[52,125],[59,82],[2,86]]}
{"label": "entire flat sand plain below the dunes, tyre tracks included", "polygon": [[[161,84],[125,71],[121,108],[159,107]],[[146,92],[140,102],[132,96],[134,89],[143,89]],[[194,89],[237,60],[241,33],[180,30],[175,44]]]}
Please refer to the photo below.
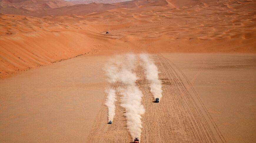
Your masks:
{"label": "entire flat sand plain below the dunes, tyre tracks included", "polygon": [[[255,54],[151,56],[163,97],[153,103],[143,69],[135,69],[146,109],[141,142],[255,141]],[[114,85],[102,68],[110,57],[81,56],[2,79],[0,142],[132,141],[119,94],[107,124],[104,89]]]}

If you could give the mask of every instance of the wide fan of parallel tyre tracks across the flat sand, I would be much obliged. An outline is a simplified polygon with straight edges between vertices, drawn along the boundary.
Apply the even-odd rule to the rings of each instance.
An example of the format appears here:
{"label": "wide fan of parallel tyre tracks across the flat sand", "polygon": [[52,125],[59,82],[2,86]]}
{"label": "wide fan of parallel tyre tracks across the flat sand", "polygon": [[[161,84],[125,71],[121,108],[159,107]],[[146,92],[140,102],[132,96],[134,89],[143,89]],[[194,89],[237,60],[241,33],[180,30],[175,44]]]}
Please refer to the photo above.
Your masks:
{"label": "wide fan of parallel tyre tracks across the flat sand", "polygon": [[[172,61],[161,54],[151,58],[159,70],[162,80],[163,97],[154,103],[149,81],[144,68],[137,63],[134,73],[136,85],[143,93],[142,104],[146,112],[142,115],[141,143],[226,143],[216,123],[202,103],[184,73]],[[123,87],[122,83],[112,83],[109,88]],[[105,95],[106,98],[107,95]],[[102,103],[87,142],[132,142],[126,129],[125,109],[120,106],[121,95],[117,92],[116,114],[113,123],[107,124],[107,107]]]}

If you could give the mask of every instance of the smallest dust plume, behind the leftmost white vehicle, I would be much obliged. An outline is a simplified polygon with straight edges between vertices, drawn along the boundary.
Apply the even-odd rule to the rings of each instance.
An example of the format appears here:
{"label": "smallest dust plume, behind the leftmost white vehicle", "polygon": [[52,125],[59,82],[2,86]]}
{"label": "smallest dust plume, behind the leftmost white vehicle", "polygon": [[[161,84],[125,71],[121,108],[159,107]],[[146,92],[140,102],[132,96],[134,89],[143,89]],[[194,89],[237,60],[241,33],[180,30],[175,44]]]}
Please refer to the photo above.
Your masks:
{"label": "smallest dust plume, behind the leftmost white vehicle", "polygon": [[105,91],[107,93],[107,99],[105,105],[108,107],[108,119],[113,120],[115,116],[115,104],[116,101],[116,91],[114,89],[109,89]]}

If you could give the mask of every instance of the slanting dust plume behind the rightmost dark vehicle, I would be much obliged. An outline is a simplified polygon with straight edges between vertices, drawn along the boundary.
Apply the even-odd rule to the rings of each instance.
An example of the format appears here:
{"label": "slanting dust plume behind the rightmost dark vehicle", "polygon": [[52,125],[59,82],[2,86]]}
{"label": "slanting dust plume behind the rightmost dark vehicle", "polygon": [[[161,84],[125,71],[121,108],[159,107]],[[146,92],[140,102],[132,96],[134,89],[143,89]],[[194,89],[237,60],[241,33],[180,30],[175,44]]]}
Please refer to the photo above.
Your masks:
{"label": "slanting dust plume behind the rightmost dark vehicle", "polygon": [[154,64],[154,61],[149,58],[148,54],[140,54],[139,57],[143,61],[143,66],[145,68],[145,74],[147,80],[150,82],[150,92],[152,92],[154,98],[161,98],[162,97],[162,82],[158,78],[158,69],[157,66]]}

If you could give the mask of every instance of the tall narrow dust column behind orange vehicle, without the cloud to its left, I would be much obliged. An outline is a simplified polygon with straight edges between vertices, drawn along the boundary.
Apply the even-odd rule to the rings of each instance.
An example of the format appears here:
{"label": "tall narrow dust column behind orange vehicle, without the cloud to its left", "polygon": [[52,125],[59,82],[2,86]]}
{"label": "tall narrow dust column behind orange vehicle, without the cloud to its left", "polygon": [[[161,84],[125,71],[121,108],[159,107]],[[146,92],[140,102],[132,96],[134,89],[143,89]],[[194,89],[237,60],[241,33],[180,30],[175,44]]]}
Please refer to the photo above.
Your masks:
{"label": "tall narrow dust column behind orange vehicle, without the cloud to its left", "polygon": [[127,129],[132,138],[141,136],[142,121],[141,115],[145,113],[144,106],[141,104],[142,92],[135,85],[137,76],[132,72],[135,67],[135,55],[128,55],[126,59],[126,66],[122,69],[120,81],[122,81],[126,88],[121,88],[120,92],[123,95],[121,98],[121,106],[125,108],[124,116],[127,118]]}

